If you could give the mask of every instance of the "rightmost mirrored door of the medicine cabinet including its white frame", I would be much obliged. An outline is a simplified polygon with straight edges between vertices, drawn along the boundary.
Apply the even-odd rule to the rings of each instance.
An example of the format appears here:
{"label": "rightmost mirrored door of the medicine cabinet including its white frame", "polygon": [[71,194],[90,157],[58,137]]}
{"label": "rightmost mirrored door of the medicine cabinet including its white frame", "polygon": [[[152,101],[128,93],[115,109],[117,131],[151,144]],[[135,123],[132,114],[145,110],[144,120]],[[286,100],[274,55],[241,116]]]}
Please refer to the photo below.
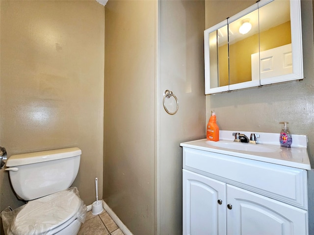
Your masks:
{"label": "rightmost mirrored door of the medicine cabinet including its white frame", "polygon": [[252,67],[259,66],[254,72],[260,72],[262,85],[303,78],[300,12],[296,0],[274,0],[260,6],[260,54],[259,59],[252,56]]}

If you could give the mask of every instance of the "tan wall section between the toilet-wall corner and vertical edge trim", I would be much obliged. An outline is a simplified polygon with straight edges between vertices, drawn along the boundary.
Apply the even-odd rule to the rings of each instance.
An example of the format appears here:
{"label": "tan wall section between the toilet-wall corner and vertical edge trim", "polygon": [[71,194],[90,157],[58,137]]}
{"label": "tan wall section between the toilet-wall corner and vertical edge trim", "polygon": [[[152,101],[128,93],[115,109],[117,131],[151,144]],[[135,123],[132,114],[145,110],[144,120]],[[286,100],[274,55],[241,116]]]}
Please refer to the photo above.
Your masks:
{"label": "tan wall section between the toilet-wall corner and vertical edge trim", "polygon": [[105,6],[104,200],[143,235],[155,233],[155,6]]}

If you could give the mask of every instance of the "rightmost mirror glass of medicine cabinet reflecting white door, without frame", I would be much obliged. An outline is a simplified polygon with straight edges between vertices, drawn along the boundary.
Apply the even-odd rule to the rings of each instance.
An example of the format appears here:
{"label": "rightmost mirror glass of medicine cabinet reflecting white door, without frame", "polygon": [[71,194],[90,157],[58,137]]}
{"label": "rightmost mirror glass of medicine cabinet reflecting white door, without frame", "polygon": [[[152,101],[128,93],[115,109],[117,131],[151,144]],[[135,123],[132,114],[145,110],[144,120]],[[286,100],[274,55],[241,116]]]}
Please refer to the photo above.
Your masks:
{"label": "rightmost mirror glass of medicine cabinet reflecting white door, without frame", "polygon": [[260,54],[252,55],[253,73],[260,72],[261,80],[292,73],[289,1],[272,1],[259,9],[259,15]]}

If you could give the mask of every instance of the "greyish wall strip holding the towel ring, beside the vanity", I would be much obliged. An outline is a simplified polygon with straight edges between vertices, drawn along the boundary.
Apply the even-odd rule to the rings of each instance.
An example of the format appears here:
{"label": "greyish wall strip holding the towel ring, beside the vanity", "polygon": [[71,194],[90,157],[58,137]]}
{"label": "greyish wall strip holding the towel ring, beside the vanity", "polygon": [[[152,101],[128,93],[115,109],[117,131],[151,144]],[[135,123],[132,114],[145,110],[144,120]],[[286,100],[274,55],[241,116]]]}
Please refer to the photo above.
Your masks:
{"label": "greyish wall strip holding the towel ring, beside the vanity", "polygon": [[[182,235],[180,143],[205,137],[205,1],[159,1],[158,24],[157,234]],[[167,89],[179,100],[175,115],[162,106]]]}

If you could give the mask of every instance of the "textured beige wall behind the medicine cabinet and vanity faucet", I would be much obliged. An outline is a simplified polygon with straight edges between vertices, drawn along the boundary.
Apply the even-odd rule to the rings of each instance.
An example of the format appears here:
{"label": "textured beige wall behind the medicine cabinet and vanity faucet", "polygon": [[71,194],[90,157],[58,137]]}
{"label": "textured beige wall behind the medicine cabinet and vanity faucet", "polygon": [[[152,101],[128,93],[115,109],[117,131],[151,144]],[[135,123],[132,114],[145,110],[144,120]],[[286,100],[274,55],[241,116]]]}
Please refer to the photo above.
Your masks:
{"label": "textured beige wall behind the medicine cabinet and vanity faucet", "polygon": [[[206,1],[207,28],[223,21],[226,17],[254,4],[251,0]],[[308,135],[309,156],[314,166],[314,40],[313,1],[301,0],[304,76],[301,81],[293,81],[273,86],[263,86],[249,90],[207,95],[206,113],[217,115],[221,130],[278,133],[279,121],[288,121],[290,131]],[[204,123],[204,125],[206,125]],[[313,180],[313,171],[309,171]],[[311,179],[312,178],[312,179]],[[309,188],[310,227],[313,227],[314,198],[313,185]],[[313,232],[309,233],[313,234]]]}

